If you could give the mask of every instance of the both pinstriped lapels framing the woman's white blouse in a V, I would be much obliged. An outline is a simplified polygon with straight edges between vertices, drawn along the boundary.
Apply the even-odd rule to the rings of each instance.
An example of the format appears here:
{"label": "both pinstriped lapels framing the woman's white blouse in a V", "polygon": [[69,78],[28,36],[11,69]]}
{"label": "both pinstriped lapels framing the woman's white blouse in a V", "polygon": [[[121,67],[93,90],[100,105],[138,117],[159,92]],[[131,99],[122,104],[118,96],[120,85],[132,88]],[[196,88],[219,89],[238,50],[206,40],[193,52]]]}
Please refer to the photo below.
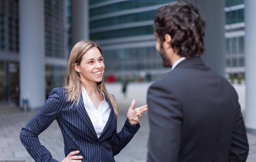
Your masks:
{"label": "both pinstriped lapels framing the woman's white blouse in a V", "polygon": [[[81,92],[82,93],[82,92]],[[106,96],[106,93],[104,92],[104,95],[105,95],[105,99],[106,101],[108,102],[108,105],[110,106],[110,115],[108,117],[108,121],[100,135],[100,138],[101,136],[104,134],[104,132],[106,132],[107,128],[110,126],[110,123],[112,121],[112,118],[113,118],[113,114],[114,114],[114,110],[113,110],[113,106],[111,104],[111,102],[109,101],[108,97]],[[90,116],[88,115],[85,107],[84,107],[84,102],[83,102],[83,97],[82,97],[82,94],[80,95],[80,99],[79,99],[79,102],[78,102],[78,105],[74,104],[75,107],[76,107],[76,111],[78,112],[78,115],[80,116],[80,118],[82,119],[82,121],[84,122],[84,124],[86,124],[86,126],[88,126],[88,128],[90,129],[90,131],[92,132],[92,134],[95,136],[95,138],[98,139],[98,136],[95,132],[95,129],[94,129],[94,126],[92,124],[92,121],[90,120]]]}

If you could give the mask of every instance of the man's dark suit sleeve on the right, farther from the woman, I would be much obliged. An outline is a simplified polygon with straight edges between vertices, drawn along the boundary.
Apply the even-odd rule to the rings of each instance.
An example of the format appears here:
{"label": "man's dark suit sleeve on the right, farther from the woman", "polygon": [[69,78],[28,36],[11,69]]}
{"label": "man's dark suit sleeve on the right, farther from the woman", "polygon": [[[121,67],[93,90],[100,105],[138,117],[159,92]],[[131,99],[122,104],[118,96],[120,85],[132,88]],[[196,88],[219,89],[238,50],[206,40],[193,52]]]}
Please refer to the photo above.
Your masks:
{"label": "man's dark suit sleeve on the right, farther from the woman", "polygon": [[244,125],[241,108],[239,105],[236,122],[232,135],[229,162],[246,162],[249,152],[249,144]]}

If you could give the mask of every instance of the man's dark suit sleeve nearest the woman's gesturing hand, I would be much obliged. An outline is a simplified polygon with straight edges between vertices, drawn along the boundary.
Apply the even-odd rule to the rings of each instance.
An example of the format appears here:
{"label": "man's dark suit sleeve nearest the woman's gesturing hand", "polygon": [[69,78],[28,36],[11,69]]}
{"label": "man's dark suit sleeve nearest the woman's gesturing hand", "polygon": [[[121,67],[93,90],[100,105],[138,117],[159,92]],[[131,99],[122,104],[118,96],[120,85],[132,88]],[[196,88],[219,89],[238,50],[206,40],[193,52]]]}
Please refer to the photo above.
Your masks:
{"label": "man's dark suit sleeve nearest the woman's gesturing hand", "polygon": [[148,162],[178,162],[182,135],[182,106],[170,88],[152,84],[148,89]]}

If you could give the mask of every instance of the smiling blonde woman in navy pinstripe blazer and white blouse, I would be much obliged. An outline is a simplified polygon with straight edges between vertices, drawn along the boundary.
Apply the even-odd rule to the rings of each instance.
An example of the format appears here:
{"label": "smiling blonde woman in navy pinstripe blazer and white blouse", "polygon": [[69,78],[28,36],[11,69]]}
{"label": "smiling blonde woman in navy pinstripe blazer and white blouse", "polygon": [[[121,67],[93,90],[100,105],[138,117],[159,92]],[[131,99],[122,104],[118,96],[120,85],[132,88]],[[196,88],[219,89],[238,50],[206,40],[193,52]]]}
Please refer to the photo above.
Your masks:
{"label": "smiling blonde woman in navy pinstripe blazer and white blouse", "polygon": [[54,88],[41,110],[22,128],[20,140],[36,162],[58,162],[40,144],[38,134],[57,120],[64,138],[66,158],[62,162],[114,162],[140,128],[138,122],[147,105],[133,110],[117,133],[118,109],[106,90],[100,46],[80,41],[70,53],[65,87]]}

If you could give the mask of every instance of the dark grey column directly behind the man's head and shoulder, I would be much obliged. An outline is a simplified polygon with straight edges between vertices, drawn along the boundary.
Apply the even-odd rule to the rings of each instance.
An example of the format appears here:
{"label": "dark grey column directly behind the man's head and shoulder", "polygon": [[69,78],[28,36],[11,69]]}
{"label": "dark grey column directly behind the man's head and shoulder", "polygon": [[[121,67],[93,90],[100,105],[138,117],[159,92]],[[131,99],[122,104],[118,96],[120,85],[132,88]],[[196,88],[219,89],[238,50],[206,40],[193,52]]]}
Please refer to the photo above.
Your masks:
{"label": "dark grey column directly behind the man's head and shoulder", "polygon": [[186,0],[199,6],[206,19],[204,36],[205,54],[202,56],[206,66],[225,76],[225,1],[224,0]]}

